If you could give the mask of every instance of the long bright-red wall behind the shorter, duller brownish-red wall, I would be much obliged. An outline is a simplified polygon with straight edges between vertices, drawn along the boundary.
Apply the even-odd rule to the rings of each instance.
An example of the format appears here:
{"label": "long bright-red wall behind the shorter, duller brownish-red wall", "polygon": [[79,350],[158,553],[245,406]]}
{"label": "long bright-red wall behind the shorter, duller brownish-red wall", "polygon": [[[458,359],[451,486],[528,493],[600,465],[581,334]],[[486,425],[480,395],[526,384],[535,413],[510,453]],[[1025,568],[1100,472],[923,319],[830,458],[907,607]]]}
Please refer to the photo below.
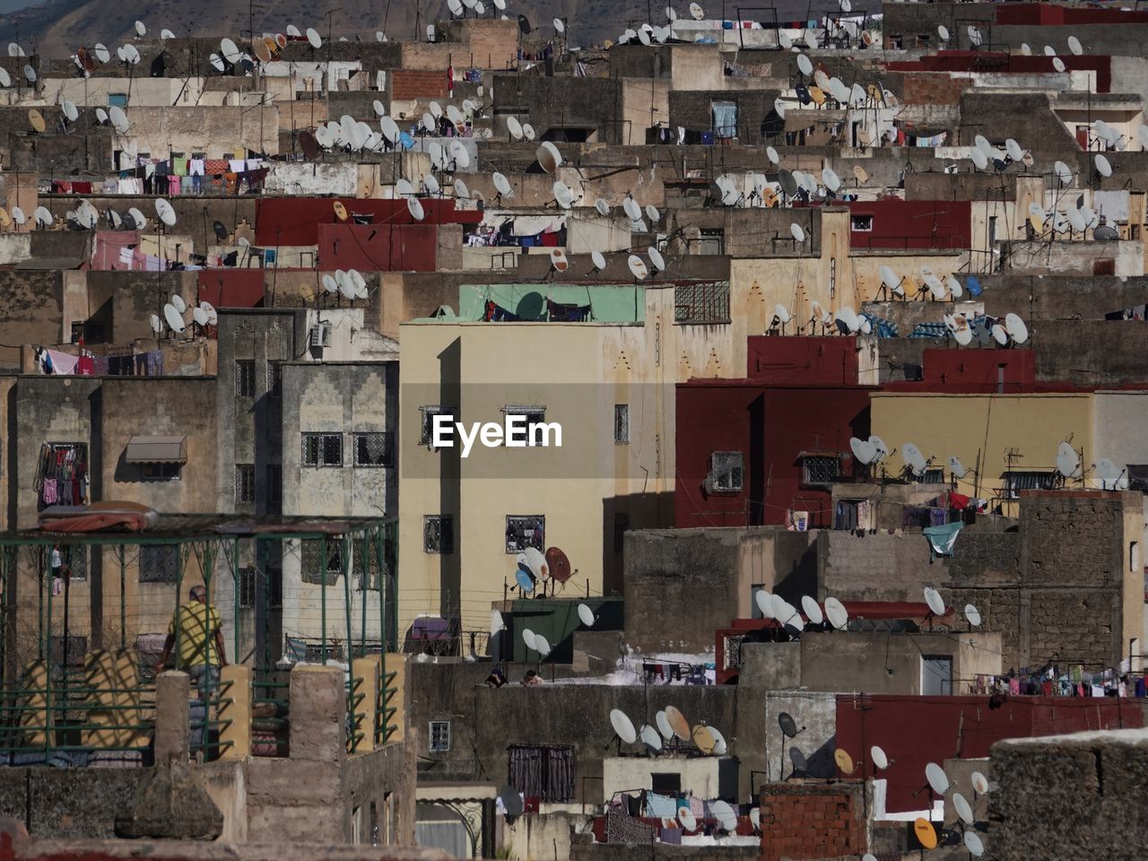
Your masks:
{"label": "long bright-red wall behind the shorter, duller brownish-red wall", "polygon": [[[339,224],[334,203],[341,200],[352,215],[373,215],[373,226],[418,224],[405,200],[377,197],[263,197],[255,209],[255,245],[313,246],[319,242],[320,224]],[[478,224],[481,210],[455,210],[450,197],[421,197],[425,216],[421,224]]]}

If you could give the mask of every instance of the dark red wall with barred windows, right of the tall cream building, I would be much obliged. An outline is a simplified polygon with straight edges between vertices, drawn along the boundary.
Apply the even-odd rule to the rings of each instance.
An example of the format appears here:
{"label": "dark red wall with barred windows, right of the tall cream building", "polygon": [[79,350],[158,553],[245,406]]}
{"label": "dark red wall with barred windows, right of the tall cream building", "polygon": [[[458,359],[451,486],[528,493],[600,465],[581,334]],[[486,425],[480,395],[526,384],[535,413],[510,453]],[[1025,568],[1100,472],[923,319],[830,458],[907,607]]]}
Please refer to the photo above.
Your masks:
{"label": "dark red wall with barred windows, right of the tall cream building", "polygon": [[[781,388],[727,380],[680,383],[675,525],[783,525],[790,509],[808,511],[812,526],[828,523],[830,494],[801,487],[798,455],[847,452],[853,435],[869,435],[868,388]],[[740,491],[706,492],[714,451],[742,452]]]}

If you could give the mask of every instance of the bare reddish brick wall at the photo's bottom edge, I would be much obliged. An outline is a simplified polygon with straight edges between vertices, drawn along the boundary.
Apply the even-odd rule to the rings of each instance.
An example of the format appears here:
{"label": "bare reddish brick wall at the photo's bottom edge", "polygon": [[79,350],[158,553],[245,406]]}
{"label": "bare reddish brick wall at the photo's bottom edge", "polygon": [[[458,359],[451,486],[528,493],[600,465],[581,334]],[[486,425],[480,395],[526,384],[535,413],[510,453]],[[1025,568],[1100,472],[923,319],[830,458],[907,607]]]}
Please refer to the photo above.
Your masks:
{"label": "bare reddish brick wall at the photo's bottom edge", "polygon": [[866,851],[861,788],[784,784],[761,793],[761,858],[819,859]]}

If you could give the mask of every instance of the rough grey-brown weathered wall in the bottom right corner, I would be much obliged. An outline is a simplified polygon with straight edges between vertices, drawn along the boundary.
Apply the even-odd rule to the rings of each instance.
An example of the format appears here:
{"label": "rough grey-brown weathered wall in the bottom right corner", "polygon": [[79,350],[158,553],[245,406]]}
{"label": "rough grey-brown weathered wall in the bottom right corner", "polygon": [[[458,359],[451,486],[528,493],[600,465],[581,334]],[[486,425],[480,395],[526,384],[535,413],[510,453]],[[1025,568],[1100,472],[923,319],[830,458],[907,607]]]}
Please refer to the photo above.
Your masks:
{"label": "rough grey-brown weathered wall in the bottom right corner", "polygon": [[[986,846],[1000,861],[1054,846],[1064,861],[1133,861],[1148,846],[1148,730],[1010,739],[992,747],[993,827]],[[1119,839],[1112,839],[1112,829]]]}

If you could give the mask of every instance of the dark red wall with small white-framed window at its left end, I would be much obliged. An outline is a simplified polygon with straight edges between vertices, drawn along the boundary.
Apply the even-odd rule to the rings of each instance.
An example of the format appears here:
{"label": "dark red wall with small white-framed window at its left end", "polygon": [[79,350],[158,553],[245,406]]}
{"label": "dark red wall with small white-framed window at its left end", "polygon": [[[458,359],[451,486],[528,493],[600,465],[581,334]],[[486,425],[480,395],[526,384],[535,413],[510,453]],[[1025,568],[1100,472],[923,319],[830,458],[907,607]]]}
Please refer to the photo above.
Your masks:
{"label": "dark red wall with small white-framed window at its left end", "polygon": [[969,248],[971,201],[848,201],[852,215],[872,216],[871,231],[851,231],[854,248]]}

